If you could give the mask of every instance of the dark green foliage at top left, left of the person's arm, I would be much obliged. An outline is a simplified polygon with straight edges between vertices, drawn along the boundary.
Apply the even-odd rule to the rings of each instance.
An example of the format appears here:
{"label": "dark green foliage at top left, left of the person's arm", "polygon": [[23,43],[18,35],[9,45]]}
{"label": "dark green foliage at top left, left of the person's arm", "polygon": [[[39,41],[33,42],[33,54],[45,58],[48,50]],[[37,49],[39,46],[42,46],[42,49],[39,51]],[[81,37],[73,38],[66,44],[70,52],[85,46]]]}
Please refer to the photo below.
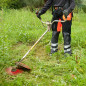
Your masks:
{"label": "dark green foliage at top left, left of the person's arm", "polygon": [[0,0],[0,8],[21,8],[24,6],[39,7],[43,0]]}

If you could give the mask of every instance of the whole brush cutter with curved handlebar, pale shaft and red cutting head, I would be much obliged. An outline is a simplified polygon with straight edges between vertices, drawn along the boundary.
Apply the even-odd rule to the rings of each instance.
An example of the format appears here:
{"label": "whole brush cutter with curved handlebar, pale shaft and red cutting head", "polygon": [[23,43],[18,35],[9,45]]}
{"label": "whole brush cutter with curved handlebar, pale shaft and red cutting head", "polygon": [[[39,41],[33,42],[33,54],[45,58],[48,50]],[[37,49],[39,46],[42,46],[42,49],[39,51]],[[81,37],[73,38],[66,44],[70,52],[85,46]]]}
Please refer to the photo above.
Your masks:
{"label": "whole brush cutter with curved handlebar, pale shaft and red cutting head", "polygon": [[31,68],[23,63],[21,63],[24,58],[30,53],[30,51],[37,45],[37,43],[42,39],[42,37],[50,30],[50,27],[52,25],[52,23],[54,22],[65,22],[65,21],[59,21],[59,20],[54,20],[52,23],[50,22],[43,22],[41,20],[42,24],[46,24],[47,25],[47,30],[43,33],[43,35],[35,42],[35,44],[27,51],[27,53],[22,57],[22,59],[19,62],[16,62],[16,65],[14,67],[9,67],[6,68],[6,72],[9,75],[17,75],[19,73],[22,73],[24,70],[31,70]]}

